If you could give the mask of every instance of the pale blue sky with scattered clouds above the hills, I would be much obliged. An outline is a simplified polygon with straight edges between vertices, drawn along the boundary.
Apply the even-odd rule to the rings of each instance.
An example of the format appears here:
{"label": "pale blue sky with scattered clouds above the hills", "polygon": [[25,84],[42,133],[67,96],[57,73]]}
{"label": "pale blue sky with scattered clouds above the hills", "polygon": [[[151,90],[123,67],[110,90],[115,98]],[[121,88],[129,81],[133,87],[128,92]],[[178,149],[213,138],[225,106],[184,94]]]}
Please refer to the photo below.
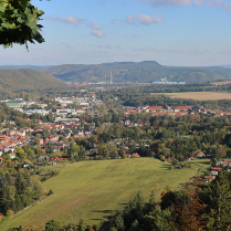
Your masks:
{"label": "pale blue sky with scattered clouds above the hills", "polygon": [[0,65],[231,64],[231,0],[32,0],[44,43],[0,45]]}

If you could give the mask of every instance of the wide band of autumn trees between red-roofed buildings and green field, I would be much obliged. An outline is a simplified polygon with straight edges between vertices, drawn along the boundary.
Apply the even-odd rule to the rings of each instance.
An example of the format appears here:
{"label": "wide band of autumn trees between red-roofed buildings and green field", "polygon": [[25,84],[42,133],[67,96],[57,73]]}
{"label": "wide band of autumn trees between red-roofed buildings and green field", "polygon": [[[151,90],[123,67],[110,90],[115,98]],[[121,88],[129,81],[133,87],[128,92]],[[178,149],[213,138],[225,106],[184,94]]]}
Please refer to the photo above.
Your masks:
{"label": "wide band of autumn trees between red-roofed buildings and green field", "polygon": [[[128,119],[141,126],[111,124],[106,130],[96,129],[87,139],[75,139],[86,149],[98,146],[95,155],[104,158],[138,153],[141,157],[156,157],[171,161],[186,160],[202,151],[213,159],[231,157],[231,117],[211,115],[150,116],[129,114]],[[84,141],[85,140],[85,141]],[[111,144],[107,144],[111,143]],[[124,146],[127,145],[128,149]]]}

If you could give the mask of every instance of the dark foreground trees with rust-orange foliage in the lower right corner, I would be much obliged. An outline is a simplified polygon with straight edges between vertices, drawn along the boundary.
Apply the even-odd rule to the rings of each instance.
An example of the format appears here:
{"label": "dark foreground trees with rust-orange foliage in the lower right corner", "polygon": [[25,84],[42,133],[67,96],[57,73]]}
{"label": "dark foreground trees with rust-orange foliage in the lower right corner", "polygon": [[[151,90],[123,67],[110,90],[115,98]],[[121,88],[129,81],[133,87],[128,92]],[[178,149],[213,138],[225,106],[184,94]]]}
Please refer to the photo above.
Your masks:
{"label": "dark foreground trees with rust-orange foliage in the lower right corner", "polygon": [[101,231],[170,231],[170,230],[230,230],[231,174],[221,174],[216,180],[186,190],[167,188],[161,196],[158,186],[149,202],[138,193],[123,211],[116,211],[101,225]]}

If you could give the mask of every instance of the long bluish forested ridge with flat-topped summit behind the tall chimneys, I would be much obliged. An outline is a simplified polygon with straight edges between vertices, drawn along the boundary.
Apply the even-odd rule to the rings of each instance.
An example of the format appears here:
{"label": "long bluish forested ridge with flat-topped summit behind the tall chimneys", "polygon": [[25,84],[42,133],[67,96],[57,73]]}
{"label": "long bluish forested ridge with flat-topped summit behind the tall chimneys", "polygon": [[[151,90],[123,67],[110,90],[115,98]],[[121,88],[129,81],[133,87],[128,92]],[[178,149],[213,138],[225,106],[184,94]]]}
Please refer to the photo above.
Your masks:
{"label": "long bluish forested ridge with flat-topped summit behind the tall chimneys", "polygon": [[154,61],[140,63],[119,62],[104,63],[96,65],[65,64],[41,69],[40,71],[54,75],[63,81],[72,82],[109,82],[111,71],[113,82],[136,82],[150,83],[160,77],[167,76],[170,81],[187,83],[204,83],[208,81],[231,80],[231,69],[212,67],[172,67],[164,66]]}

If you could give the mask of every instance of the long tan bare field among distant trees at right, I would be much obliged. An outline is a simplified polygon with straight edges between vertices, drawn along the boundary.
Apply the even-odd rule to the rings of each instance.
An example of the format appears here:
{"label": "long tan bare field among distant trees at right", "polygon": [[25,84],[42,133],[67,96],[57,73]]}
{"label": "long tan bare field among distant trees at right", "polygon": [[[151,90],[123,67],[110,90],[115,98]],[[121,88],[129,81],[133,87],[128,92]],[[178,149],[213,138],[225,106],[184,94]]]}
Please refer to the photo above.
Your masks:
{"label": "long tan bare field among distant trees at right", "polygon": [[218,92],[182,92],[182,93],[157,93],[157,94],[166,95],[171,98],[191,98],[196,101],[231,99],[231,94],[218,93]]}

